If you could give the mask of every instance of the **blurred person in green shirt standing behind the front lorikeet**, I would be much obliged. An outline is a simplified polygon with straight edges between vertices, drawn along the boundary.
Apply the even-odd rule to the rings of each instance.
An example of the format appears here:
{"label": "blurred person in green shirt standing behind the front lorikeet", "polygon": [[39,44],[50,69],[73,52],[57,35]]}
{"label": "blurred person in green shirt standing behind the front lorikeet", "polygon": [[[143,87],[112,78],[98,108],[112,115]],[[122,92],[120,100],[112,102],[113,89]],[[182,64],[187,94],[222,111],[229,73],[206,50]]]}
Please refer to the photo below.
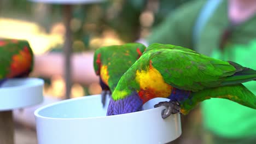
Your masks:
{"label": "blurred person in green shirt standing behind the front lorikeet", "polygon": [[[256,69],[255,26],[255,0],[197,0],[177,8],[139,42],[180,45]],[[255,81],[243,84],[256,95]],[[256,110],[225,99],[201,106],[203,143],[256,143]]]}

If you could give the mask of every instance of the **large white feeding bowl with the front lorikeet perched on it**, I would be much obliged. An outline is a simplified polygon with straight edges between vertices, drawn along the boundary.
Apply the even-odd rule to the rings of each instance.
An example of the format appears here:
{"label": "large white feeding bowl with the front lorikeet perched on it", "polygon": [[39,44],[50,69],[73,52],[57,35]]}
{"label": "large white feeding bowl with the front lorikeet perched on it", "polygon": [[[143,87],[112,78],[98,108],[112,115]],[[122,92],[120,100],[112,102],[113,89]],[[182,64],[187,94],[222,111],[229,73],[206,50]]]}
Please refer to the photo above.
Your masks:
{"label": "large white feeding bowl with the front lorikeet perched on it", "polygon": [[100,101],[101,95],[91,95],[37,109],[38,143],[167,143],[182,133],[179,114],[162,119],[165,107],[153,109],[166,99],[152,99],[143,111],[115,116],[106,116],[107,106]]}

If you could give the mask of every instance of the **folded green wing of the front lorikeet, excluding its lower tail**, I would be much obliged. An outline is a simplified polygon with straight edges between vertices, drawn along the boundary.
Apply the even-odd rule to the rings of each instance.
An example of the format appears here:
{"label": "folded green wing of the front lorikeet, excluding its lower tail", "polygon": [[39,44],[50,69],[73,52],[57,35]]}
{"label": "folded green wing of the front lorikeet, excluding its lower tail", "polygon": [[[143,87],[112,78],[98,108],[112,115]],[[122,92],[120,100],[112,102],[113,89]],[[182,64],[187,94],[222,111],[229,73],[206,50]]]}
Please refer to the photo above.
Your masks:
{"label": "folded green wing of the front lorikeet, excluding its lower tail", "polygon": [[231,65],[230,62],[200,55],[184,47],[153,44],[146,52],[166,83],[187,91],[236,85],[256,77],[255,71],[249,76],[232,76],[243,71],[243,67],[236,64],[235,68],[235,63]]}

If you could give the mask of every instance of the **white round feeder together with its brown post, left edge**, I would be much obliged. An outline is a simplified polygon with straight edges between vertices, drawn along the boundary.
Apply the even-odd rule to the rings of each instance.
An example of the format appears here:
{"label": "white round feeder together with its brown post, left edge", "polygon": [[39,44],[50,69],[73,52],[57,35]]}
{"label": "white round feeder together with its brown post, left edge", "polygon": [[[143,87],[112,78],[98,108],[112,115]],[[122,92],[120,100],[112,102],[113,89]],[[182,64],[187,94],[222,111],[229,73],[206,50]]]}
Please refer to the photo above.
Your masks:
{"label": "white round feeder together with its brown post, left edge", "polygon": [[43,101],[44,81],[36,78],[9,79],[0,87],[0,143],[14,143],[12,110]]}

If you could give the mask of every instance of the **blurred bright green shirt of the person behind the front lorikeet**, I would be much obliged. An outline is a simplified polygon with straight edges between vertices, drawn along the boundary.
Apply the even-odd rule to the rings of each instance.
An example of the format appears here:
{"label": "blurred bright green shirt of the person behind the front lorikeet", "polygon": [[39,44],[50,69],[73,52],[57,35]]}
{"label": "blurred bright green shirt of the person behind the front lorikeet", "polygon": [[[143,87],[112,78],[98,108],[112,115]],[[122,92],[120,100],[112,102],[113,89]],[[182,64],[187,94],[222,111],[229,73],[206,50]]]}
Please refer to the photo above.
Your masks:
{"label": "blurred bright green shirt of the person behind the front lorikeet", "polygon": [[[154,29],[148,42],[181,45],[214,58],[256,69],[256,17],[236,27],[223,53],[218,49],[220,37],[229,24],[227,1],[218,5],[203,27],[199,41],[193,45],[191,35],[203,4],[205,1],[192,1],[178,8]],[[243,84],[256,94],[255,81]],[[256,110],[230,100],[203,101],[202,116],[204,127],[217,135],[230,138],[256,136]]]}

